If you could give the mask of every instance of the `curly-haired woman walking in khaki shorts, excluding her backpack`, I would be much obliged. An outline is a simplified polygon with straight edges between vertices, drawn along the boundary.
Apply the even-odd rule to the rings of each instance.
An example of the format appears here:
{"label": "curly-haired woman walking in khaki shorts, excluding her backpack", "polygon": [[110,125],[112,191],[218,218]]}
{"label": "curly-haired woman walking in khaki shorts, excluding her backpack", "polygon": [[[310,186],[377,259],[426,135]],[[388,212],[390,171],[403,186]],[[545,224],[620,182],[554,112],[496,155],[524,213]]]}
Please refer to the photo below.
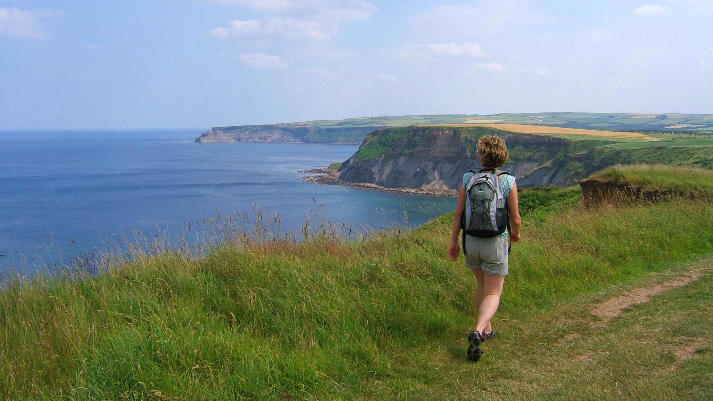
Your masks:
{"label": "curly-haired woman walking in khaki shorts, excluding her backpack", "polygon": [[[476,290],[476,305],[478,306],[478,323],[476,330],[468,335],[468,359],[477,361],[481,357],[481,342],[495,337],[496,333],[491,326],[491,319],[498,310],[500,296],[503,293],[503,283],[508,275],[508,235],[513,243],[520,240],[520,212],[518,210],[518,187],[515,177],[508,173],[497,171],[508,161],[508,148],[503,138],[498,136],[483,136],[478,141],[478,158],[483,169],[481,173],[496,173],[498,175],[503,198],[506,198],[506,208],[509,212],[509,229],[503,228],[503,233],[491,238],[478,238],[466,235],[463,240],[466,254],[466,266],[473,270],[478,280]],[[497,171],[497,172],[496,172]],[[476,174],[469,172],[463,175],[463,183],[458,189],[458,205],[456,216],[453,218],[453,232],[451,233],[451,246],[448,254],[453,260],[458,260],[460,245],[458,245],[458,231],[461,230],[461,216],[466,210],[466,188]],[[481,176],[481,174],[478,174]],[[487,179],[495,180],[488,175]],[[477,178],[476,178],[477,180]],[[497,185],[497,182],[495,182]],[[471,190],[472,191],[472,190]],[[476,210],[476,213],[478,210]],[[488,215],[489,217],[489,215]],[[472,218],[472,217],[471,217]],[[507,220],[507,217],[505,217]],[[488,223],[490,223],[488,219]]]}

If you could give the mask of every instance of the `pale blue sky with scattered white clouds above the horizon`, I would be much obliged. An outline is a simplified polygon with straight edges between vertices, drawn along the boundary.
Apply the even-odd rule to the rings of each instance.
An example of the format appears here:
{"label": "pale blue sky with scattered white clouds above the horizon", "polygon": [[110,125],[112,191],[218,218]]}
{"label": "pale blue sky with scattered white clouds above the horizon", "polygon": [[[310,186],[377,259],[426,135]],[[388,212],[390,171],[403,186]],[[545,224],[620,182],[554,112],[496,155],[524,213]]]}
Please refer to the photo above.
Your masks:
{"label": "pale blue sky with scattered white clouds above the horizon", "polygon": [[0,0],[0,129],[713,113],[713,0]]}

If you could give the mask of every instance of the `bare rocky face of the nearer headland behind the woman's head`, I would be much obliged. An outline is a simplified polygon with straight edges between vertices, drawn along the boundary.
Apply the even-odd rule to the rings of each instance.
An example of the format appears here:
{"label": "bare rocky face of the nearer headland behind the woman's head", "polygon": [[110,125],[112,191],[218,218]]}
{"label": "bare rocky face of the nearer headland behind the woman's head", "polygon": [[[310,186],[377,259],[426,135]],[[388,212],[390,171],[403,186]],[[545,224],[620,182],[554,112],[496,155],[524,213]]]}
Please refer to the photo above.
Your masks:
{"label": "bare rocky face of the nearer headland behind the woman's head", "polygon": [[[339,179],[387,188],[457,191],[463,173],[481,168],[476,153],[478,138],[446,128],[375,131],[342,164]],[[585,174],[567,168],[573,156],[570,141],[523,134],[503,138],[511,161],[501,169],[517,176],[518,186],[568,186]],[[374,155],[374,149],[379,148],[386,150]]]}

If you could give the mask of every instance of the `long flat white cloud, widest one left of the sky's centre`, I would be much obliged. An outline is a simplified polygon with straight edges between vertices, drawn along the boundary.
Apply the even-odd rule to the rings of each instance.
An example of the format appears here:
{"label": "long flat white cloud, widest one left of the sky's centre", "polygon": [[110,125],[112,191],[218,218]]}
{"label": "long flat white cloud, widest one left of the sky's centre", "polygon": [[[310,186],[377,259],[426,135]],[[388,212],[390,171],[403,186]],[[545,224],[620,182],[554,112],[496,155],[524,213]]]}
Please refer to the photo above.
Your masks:
{"label": "long flat white cloud, widest one left of the sky's centre", "polygon": [[297,19],[272,19],[270,21],[258,21],[250,19],[240,21],[236,19],[230,23],[230,27],[219,26],[210,31],[212,36],[217,38],[307,38],[307,39],[329,39],[319,28],[315,21],[299,21]]}

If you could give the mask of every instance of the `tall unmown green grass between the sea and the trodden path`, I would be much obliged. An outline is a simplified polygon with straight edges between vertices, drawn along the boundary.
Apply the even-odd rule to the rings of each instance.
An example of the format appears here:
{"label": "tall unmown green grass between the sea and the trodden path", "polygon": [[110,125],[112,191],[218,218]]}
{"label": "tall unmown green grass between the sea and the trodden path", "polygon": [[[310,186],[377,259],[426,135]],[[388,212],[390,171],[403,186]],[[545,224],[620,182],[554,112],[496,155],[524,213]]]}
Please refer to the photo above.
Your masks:
{"label": "tall unmown green grass between the sea and the trodden path", "polygon": [[[713,250],[707,200],[584,208],[561,191],[525,208],[500,319]],[[361,240],[227,240],[202,258],[169,248],[96,278],[16,283],[0,291],[0,396],[359,393],[396,375],[404,350],[472,329],[475,281],[446,255],[451,218]]]}

